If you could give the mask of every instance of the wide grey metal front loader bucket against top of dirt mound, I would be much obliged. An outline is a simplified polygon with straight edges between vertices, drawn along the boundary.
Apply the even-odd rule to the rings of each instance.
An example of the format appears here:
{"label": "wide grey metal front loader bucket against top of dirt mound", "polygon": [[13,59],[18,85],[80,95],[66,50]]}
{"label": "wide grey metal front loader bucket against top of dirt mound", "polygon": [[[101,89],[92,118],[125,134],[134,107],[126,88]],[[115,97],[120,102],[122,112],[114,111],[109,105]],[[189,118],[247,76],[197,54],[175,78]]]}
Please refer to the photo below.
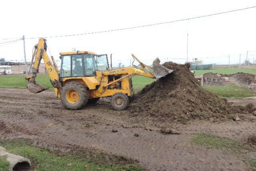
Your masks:
{"label": "wide grey metal front loader bucket against top of dirt mound", "polygon": [[160,60],[156,58],[153,61],[153,70],[154,70],[154,76],[156,79],[166,76],[167,74],[170,74],[173,72],[173,70],[170,70],[160,64]]}

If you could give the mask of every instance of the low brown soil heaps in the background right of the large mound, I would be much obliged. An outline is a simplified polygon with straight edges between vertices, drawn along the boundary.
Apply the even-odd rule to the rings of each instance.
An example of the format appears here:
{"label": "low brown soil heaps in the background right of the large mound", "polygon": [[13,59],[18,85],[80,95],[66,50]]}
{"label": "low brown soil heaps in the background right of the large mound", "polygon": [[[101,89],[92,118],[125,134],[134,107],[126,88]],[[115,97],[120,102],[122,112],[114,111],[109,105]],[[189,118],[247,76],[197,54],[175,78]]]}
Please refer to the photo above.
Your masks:
{"label": "low brown soil heaps in the background right of the large mound", "polygon": [[[204,85],[227,85],[233,83],[236,86],[245,87],[246,89],[253,89],[256,91],[256,76],[253,74],[247,74],[238,72],[236,74],[217,74],[217,73],[205,73]],[[228,78],[228,81],[225,80]]]}

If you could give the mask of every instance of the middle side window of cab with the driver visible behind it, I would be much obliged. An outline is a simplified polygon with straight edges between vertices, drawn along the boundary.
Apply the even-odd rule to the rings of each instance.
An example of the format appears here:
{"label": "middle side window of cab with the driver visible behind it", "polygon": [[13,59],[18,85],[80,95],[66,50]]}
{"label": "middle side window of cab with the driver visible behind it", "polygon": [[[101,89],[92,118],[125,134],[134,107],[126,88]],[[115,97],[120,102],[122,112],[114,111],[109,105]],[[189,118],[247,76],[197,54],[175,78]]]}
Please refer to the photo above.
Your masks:
{"label": "middle side window of cab with the driver visible behind it", "polygon": [[72,76],[84,76],[82,55],[72,56]]}

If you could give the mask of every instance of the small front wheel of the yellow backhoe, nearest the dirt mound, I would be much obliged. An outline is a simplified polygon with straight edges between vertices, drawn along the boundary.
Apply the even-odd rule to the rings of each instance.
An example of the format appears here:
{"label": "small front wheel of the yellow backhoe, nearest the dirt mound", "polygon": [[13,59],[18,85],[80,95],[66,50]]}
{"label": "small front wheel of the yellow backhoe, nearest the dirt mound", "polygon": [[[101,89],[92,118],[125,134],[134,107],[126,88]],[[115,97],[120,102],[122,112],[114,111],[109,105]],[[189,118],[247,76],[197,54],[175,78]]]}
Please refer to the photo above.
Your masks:
{"label": "small front wheel of the yellow backhoe, nearest the dirt mound", "polygon": [[124,93],[115,93],[112,95],[110,103],[115,110],[123,110],[127,107],[129,99]]}

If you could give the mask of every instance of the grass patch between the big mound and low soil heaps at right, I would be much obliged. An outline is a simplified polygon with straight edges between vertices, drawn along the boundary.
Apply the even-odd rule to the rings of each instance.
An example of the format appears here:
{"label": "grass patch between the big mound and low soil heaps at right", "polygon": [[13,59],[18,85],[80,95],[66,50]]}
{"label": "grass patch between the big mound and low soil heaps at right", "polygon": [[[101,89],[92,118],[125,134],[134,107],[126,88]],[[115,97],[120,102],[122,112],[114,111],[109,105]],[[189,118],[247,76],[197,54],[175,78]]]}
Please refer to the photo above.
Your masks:
{"label": "grass patch between the big mound and low soil heaps at right", "polygon": [[203,86],[204,89],[211,91],[212,93],[218,95],[219,97],[228,98],[243,98],[243,97],[253,97],[256,96],[256,92],[253,90],[248,90],[243,87],[237,86]]}

